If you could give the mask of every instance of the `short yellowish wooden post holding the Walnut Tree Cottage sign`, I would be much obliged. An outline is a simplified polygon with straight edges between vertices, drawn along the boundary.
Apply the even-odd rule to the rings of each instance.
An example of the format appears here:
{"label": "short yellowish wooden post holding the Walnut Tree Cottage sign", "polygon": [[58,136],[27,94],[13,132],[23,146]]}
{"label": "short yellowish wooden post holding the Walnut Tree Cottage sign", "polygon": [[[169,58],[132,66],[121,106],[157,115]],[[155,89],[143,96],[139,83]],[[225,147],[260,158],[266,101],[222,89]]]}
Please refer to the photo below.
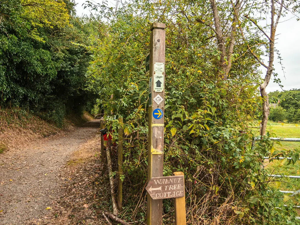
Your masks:
{"label": "short yellowish wooden post holding the Walnut Tree Cottage sign", "polygon": [[[175,172],[174,175],[184,176],[182,172]],[[175,208],[175,225],[186,225],[185,195],[183,197],[174,198],[174,208]]]}

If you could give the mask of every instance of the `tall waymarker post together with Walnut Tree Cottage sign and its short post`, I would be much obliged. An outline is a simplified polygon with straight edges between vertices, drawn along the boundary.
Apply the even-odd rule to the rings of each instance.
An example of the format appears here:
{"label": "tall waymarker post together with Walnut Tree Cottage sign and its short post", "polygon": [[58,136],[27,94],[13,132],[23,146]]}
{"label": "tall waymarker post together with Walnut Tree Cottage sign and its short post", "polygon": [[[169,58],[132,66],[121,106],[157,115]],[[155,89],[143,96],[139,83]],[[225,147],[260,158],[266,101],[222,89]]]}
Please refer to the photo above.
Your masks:
{"label": "tall waymarker post together with Walnut Tree Cottage sign and its short post", "polygon": [[149,120],[148,120],[148,185],[147,225],[162,224],[162,199],[175,198],[176,225],[185,225],[184,176],[163,177],[164,107],[165,107],[165,27],[164,23],[150,26],[149,60]]}

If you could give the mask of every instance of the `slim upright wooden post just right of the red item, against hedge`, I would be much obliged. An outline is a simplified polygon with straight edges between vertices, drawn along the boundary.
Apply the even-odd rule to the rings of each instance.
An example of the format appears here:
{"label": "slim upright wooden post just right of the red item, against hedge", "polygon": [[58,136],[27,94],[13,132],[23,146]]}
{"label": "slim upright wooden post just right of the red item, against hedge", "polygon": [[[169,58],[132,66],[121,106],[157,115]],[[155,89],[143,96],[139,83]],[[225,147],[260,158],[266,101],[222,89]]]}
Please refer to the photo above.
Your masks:
{"label": "slim upright wooden post just right of the red item, against hedge", "polygon": [[123,175],[123,118],[119,117],[120,128],[118,130],[119,140],[118,140],[118,198],[117,198],[117,206],[118,210],[122,211],[122,186],[123,182],[121,180],[121,176]]}

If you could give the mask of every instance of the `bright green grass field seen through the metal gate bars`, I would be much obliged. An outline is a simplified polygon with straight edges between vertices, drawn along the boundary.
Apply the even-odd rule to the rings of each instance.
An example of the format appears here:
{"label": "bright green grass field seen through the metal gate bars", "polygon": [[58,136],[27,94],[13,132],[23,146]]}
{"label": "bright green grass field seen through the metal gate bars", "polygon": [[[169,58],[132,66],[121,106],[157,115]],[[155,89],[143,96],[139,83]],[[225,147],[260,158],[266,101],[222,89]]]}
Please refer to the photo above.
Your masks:
{"label": "bright green grass field seen through the metal gate bars", "polygon": [[[300,138],[300,126],[297,124],[283,124],[270,122],[267,130],[272,137],[291,137]],[[275,144],[275,150],[293,150],[300,149],[300,142],[280,142],[281,145]],[[265,160],[265,170],[270,174],[300,176],[300,161],[294,165],[288,164],[288,160]],[[300,179],[289,178],[271,178],[270,186],[277,187],[279,190],[295,191],[300,189]],[[275,182],[277,181],[277,182]]]}

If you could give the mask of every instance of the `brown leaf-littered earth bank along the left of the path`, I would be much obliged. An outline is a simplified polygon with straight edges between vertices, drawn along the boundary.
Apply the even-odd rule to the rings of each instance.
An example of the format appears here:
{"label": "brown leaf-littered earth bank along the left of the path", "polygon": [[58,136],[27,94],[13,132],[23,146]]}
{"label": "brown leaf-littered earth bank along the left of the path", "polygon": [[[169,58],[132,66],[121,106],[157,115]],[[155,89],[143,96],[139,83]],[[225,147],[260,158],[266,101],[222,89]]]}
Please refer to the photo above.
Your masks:
{"label": "brown leaf-littered earth bank along the left of the path", "polygon": [[81,116],[69,115],[64,120],[62,128],[53,123],[35,116],[21,108],[0,110],[0,153],[9,149],[22,148],[38,139],[59,134],[62,131],[71,131],[77,125],[94,119],[89,113]]}

